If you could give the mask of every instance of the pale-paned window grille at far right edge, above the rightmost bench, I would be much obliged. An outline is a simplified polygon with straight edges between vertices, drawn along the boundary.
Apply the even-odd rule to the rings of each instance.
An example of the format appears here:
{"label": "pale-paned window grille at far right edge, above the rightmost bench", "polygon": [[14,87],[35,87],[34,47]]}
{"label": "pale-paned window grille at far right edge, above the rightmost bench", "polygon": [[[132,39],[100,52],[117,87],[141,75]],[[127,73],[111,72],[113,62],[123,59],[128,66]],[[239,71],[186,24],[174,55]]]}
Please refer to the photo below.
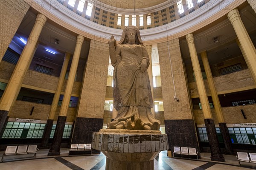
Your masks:
{"label": "pale-paned window grille at far right edge, above the rightmost bench", "polygon": [[256,144],[256,127],[228,127],[234,144]]}

